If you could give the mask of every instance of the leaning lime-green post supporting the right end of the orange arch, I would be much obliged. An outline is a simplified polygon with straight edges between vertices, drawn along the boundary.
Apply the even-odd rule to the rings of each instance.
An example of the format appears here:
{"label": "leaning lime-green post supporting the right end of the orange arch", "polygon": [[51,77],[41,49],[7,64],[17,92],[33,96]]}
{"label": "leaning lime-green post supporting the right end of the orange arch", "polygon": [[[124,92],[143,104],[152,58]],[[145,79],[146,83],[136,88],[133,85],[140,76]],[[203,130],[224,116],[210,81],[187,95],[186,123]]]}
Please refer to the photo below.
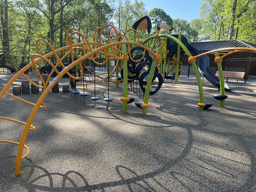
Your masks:
{"label": "leaning lime-green post supporting the right end of the orange arch", "polygon": [[[160,54],[162,52],[162,50],[163,50],[162,47],[158,47],[158,50],[157,50],[156,54]],[[150,72],[148,74],[148,82],[147,82],[147,85],[146,85],[146,90],[145,90],[145,94],[144,94],[144,101],[143,101],[143,103],[145,103],[145,104],[148,104],[149,92],[150,92],[150,87],[151,87],[154,71],[155,71],[155,68],[156,68],[156,64],[157,64],[157,61],[154,60],[153,63],[152,63]],[[144,108],[142,110],[142,115],[147,115],[147,108]]]}

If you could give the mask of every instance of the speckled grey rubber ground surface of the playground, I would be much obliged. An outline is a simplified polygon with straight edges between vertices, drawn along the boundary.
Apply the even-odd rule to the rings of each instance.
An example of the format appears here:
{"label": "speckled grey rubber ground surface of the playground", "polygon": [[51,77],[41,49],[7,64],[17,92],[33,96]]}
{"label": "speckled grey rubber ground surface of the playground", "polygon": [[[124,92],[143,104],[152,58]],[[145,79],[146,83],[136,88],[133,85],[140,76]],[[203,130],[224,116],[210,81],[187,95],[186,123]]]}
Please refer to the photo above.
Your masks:
{"label": "speckled grey rubber ground surface of the playground", "polygon": [[[0,74],[0,90],[12,76]],[[67,78],[59,84],[60,92],[49,93],[46,108],[34,118],[20,176],[14,176],[17,146],[0,143],[0,192],[256,191],[255,84],[228,83],[232,92],[226,92],[220,108],[213,98],[219,90],[204,80],[204,101],[213,106],[199,110],[194,78],[180,77],[177,84],[166,80],[150,97],[147,116],[134,103],[122,113],[122,83],[120,88],[110,83],[109,103],[103,100],[108,96],[104,82],[96,85],[100,100],[95,103],[93,85],[83,98],[62,93]],[[128,96],[143,98],[136,85]],[[38,95],[21,98],[36,102]],[[0,102],[1,116],[24,122],[31,109],[9,96]],[[19,142],[22,129],[0,120],[0,139]]]}

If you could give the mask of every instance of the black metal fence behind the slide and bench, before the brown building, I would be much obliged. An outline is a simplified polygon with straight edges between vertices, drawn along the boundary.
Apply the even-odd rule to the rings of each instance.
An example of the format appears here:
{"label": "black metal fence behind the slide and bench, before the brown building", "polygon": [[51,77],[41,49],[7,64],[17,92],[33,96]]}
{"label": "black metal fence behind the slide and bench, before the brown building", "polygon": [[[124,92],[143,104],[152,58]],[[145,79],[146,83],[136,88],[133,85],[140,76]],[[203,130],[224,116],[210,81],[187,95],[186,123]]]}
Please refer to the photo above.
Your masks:
{"label": "black metal fence behind the slide and bench, before the brown building", "polygon": [[[218,70],[214,58],[210,58],[209,68],[213,74]],[[245,72],[244,79],[239,79],[238,82],[256,83],[256,58],[226,58],[222,60],[222,70]],[[194,69],[188,63],[188,59],[182,59],[182,68],[180,76],[196,77]],[[228,78],[229,81],[236,82],[236,78]]]}

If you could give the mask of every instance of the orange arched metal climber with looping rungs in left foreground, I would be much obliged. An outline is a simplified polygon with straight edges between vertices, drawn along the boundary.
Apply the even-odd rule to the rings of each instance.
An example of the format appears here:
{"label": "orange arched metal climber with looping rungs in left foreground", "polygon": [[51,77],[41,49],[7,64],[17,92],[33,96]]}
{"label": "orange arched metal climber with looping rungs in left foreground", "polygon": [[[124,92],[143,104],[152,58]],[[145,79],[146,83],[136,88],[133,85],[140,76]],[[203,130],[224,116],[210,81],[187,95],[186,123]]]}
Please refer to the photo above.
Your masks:
{"label": "orange arched metal climber with looping rungs in left foreground", "polygon": [[[49,42],[47,42],[44,39],[38,39],[36,41],[36,50],[37,50],[37,54],[34,54],[31,56],[31,63],[29,63],[28,65],[26,65],[24,68],[20,69],[19,72],[17,72],[11,79],[10,81],[4,86],[4,88],[2,88],[2,91],[0,92],[0,100],[2,100],[4,95],[7,96],[11,96],[12,98],[15,98],[16,100],[19,100],[21,102],[24,102],[25,104],[29,104],[33,106],[33,109],[30,111],[28,111],[28,119],[26,122],[22,122],[19,120],[15,120],[12,118],[8,118],[8,117],[2,117],[0,116],[0,119],[3,120],[8,120],[8,121],[12,121],[12,122],[16,122],[19,124],[24,125],[24,129],[22,132],[22,135],[20,137],[20,142],[14,142],[14,141],[7,141],[7,140],[0,140],[0,142],[4,142],[4,143],[11,143],[11,144],[17,144],[18,145],[18,150],[17,150],[17,155],[16,155],[16,163],[15,163],[15,176],[18,176],[20,174],[20,166],[21,166],[21,160],[26,158],[26,156],[28,156],[28,154],[30,153],[30,149],[28,148],[28,146],[25,145],[25,141],[26,141],[26,137],[28,135],[28,131],[30,130],[34,130],[35,127],[32,125],[32,122],[34,120],[34,117],[36,116],[36,113],[38,111],[39,108],[45,108],[46,104],[44,104],[44,99],[46,98],[47,94],[50,92],[50,90],[52,89],[52,87],[58,82],[58,80],[60,80],[60,78],[62,78],[62,76],[64,76],[65,74],[68,74],[68,76],[70,76],[71,78],[78,80],[80,78],[82,78],[82,75],[84,74],[83,71],[83,66],[82,63],[84,60],[89,59],[92,60],[94,63],[98,64],[98,65],[103,65],[105,64],[109,59],[116,59],[117,61],[120,60],[128,60],[129,58],[131,60],[133,60],[131,54],[130,54],[130,48],[131,46],[139,46],[142,47],[144,49],[144,54],[143,57],[145,55],[145,52],[149,52],[153,58],[155,58],[156,60],[158,60],[160,58],[160,56],[154,52],[152,52],[150,49],[146,48],[145,46],[139,44],[138,42],[127,42],[127,41],[122,41],[124,40],[124,38],[127,39],[126,37],[126,32],[123,35],[119,35],[118,31],[114,28],[114,26],[111,26],[114,28],[115,32],[116,32],[116,40],[115,42],[111,42],[110,39],[110,35],[108,34],[108,31],[106,30],[106,27],[109,27],[111,25],[106,25],[103,26],[102,28],[98,28],[96,30],[96,32],[94,33],[94,42],[89,42],[88,39],[86,38],[86,36],[84,36],[81,32],[79,32],[77,29],[75,28],[70,28],[67,33],[66,33],[66,41],[67,41],[67,46],[64,46],[62,48],[58,48],[56,50],[54,50],[54,48],[50,45]],[[99,35],[99,41],[96,42],[96,33],[98,32],[98,30],[100,30],[100,35]],[[135,30],[134,30],[135,31]],[[102,33],[106,32],[107,37],[109,39],[109,44],[104,44],[101,42],[101,37],[102,37]],[[82,38],[82,42],[78,42],[78,43],[74,43],[72,42],[72,40],[74,39],[74,36],[80,35]],[[138,35],[138,32],[137,32]],[[121,41],[118,41],[119,39],[121,39]],[[139,38],[138,38],[139,41]],[[39,44],[44,43],[46,44],[46,46],[48,46],[51,50],[51,52],[49,52],[48,54],[42,55],[40,52],[40,46]],[[122,52],[121,47],[122,45],[126,45],[127,47],[127,52]],[[111,50],[111,52],[108,52],[108,49]],[[82,50],[83,52],[83,56],[81,55],[76,55],[75,54],[75,50]],[[62,58],[60,58],[58,56],[58,53],[60,53],[61,51],[65,51],[66,54],[64,54],[64,56],[62,56]],[[101,55],[105,56],[105,60],[102,63],[96,62],[96,59],[98,57],[100,57]],[[57,63],[53,64],[48,58],[51,56],[55,56],[57,59]],[[63,64],[63,60],[66,57],[71,57],[72,58],[72,62],[71,64],[69,64],[68,66],[64,66]],[[74,57],[76,57],[76,60],[74,60]],[[142,58],[143,58],[142,57]],[[42,78],[42,75],[40,74],[36,64],[38,64],[39,62],[44,61],[47,62],[48,64],[50,64],[50,66],[52,66],[52,72],[50,72],[49,77],[46,81],[44,81],[44,79]],[[134,62],[138,62],[137,60]],[[57,66],[60,65],[62,66],[63,70],[61,72],[59,72],[57,70]],[[74,67],[78,65],[80,67],[81,70],[81,76],[80,77],[75,77],[72,76],[72,74],[69,73],[69,71]],[[42,86],[35,84],[24,72],[30,68],[30,67],[34,67],[35,69],[35,73],[38,74],[40,80],[42,81]],[[117,65],[116,65],[117,67]],[[116,69],[115,67],[115,69]],[[113,70],[114,71],[114,70]],[[57,76],[50,82],[50,79],[52,77],[52,74],[56,72]],[[112,73],[110,73],[111,75]],[[19,98],[17,96],[14,96],[12,94],[10,94],[8,92],[8,89],[10,88],[10,86],[17,80],[17,78],[19,76],[23,75],[31,84],[33,84],[34,86],[43,89],[42,94],[40,94],[38,100],[36,103],[32,103],[29,101],[26,101],[22,98]],[[104,79],[107,79],[108,76]],[[102,79],[102,80],[104,80]],[[133,98],[130,98],[130,100],[126,100],[126,102],[131,102],[133,100]],[[150,104],[146,104],[146,105],[142,105],[143,107],[148,107]],[[26,148],[27,152],[25,155],[22,156],[23,150],[24,148]]]}

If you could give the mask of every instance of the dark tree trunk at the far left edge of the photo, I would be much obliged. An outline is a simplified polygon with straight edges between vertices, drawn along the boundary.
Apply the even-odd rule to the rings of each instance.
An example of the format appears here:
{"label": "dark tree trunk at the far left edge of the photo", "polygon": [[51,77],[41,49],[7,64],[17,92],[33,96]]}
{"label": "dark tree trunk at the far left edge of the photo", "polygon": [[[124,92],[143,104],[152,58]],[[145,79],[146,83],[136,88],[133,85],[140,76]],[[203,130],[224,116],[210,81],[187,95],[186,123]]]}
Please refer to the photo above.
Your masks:
{"label": "dark tree trunk at the far left edge of the photo", "polygon": [[[3,2],[3,0],[2,0]],[[3,7],[1,7],[1,21],[3,34],[3,53],[10,51],[9,34],[8,34],[8,1],[4,0]]]}

